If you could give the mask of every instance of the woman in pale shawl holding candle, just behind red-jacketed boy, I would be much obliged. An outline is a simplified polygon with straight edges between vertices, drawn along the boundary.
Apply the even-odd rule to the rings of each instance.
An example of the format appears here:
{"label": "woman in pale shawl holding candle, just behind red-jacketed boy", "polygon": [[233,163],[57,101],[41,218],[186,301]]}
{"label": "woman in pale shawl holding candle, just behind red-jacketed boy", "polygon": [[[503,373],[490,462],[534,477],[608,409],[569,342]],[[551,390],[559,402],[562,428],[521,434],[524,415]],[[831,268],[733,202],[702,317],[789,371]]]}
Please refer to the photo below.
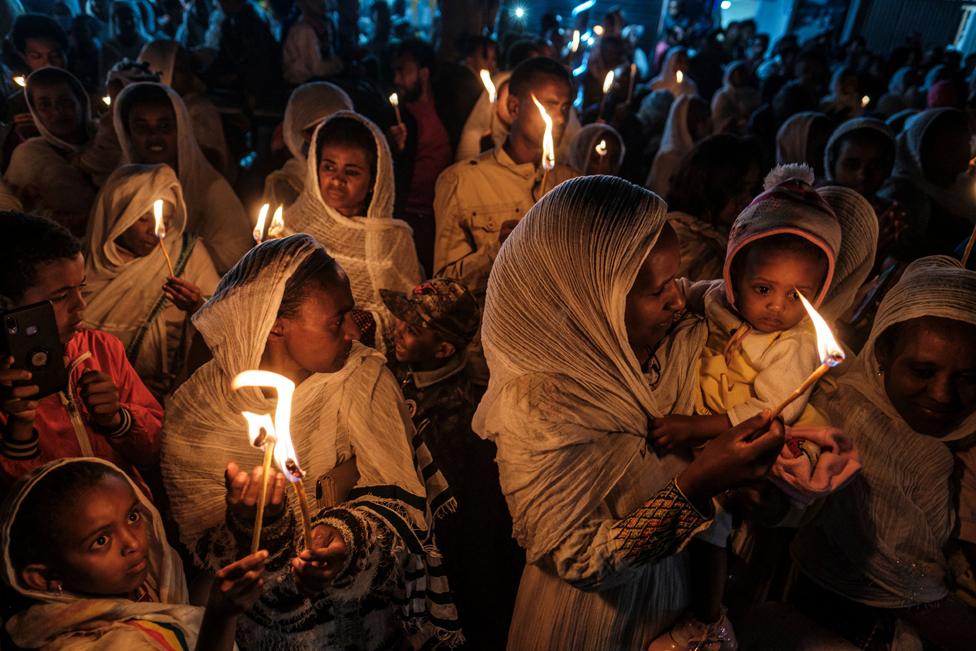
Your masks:
{"label": "woman in pale shawl holding candle, just behind red-jacketed boy", "polygon": [[[166,217],[162,241],[155,234],[157,200]],[[157,398],[169,393],[183,370],[193,334],[190,315],[220,280],[203,243],[185,226],[180,182],[166,165],[120,167],[102,188],[88,224],[85,323],[122,341]]]}

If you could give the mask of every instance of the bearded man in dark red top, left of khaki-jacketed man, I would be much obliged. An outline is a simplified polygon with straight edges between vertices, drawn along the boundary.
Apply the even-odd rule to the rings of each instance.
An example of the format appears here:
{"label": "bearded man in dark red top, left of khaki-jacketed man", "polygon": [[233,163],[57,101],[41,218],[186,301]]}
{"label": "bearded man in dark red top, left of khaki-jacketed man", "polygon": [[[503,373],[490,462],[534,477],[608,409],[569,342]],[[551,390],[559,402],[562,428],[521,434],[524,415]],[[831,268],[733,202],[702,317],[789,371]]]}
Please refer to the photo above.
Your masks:
{"label": "bearded man in dark red top, left of khaki-jacketed man", "polygon": [[[434,97],[434,48],[420,39],[407,39],[393,52],[393,83],[403,107],[403,122],[390,129],[395,159],[396,217],[414,231],[420,264],[433,273],[434,186],[454,160],[452,139],[442,115],[450,109]],[[466,117],[466,116],[465,116]],[[456,135],[456,134],[455,134]]]}

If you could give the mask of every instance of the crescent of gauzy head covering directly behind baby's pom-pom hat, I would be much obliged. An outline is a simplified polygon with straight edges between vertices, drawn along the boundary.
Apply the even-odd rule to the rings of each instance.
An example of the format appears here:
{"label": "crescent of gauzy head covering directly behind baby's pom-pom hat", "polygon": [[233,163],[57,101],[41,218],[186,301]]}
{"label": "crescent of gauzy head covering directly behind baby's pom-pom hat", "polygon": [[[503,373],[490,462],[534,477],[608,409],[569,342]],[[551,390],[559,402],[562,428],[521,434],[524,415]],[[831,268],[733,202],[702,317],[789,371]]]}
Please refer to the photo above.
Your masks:
{"label": "crescent of gauzy head covering directly behind baby's pom-pom hat", "polygon": [[832,320],[854,303],[857,291],[874,266],[878,249],[878,217],[860,193],[839,185],[817,188],[840,222],[840,249],[834,278],[820,312]]}

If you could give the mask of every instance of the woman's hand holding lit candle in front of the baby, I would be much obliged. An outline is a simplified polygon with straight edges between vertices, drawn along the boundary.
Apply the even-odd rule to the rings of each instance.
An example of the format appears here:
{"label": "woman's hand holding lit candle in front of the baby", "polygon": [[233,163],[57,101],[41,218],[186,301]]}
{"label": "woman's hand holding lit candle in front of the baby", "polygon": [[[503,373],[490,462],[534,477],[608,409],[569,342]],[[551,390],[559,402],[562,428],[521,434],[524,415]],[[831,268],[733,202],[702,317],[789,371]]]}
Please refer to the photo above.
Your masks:
{"label": "woman's hand holding lit candle in front of the baby", "polygon": [[739,423],[706,445],[678,477],[678,486],[696,507],[730,488],[766,476],[786,441],[783,423],[770,422],[769,410]]}

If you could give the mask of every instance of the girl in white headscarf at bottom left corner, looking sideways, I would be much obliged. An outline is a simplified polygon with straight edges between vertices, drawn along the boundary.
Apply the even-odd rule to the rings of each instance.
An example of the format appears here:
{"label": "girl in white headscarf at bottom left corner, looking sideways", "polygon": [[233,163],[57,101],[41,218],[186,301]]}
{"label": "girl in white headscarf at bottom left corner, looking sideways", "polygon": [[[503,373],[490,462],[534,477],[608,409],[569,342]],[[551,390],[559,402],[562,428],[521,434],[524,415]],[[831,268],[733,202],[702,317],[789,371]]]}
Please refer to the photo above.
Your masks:
{"label": "girl in white headscarf at bottom left corner, looking sideways", "polygon": [[189,605],[159,512],[101,459],[35,468],[2,518],[4,619],[18,647],[229,650],[263,584],[259,551],[217,573],[206,609]]}

